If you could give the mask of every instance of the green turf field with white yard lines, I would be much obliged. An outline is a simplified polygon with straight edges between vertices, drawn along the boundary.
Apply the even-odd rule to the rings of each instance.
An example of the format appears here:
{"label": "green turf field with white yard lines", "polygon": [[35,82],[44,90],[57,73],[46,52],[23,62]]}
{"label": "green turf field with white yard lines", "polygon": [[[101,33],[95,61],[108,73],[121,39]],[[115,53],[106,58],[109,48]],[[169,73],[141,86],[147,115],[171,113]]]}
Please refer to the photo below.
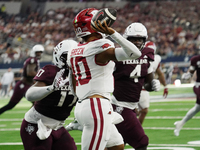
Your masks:
{"label": "green turf field with white yard lines", "polygon": [[[195,104],[195,97],[190,87],[169,86],[167,99],[162,98],[162,91],[151,92],[149,113],[143,127],[149,136],[148,149],[155,150],[200,150],[200,113],[188,121],[180,132],[174,136],[174,122],[180,120]],[[0,107],[8,102],[0,98]],[[23,150],[19,129],[25,112],[31,104],[23,99],[15,108],[0,115],[0,150]],[[72,112],[66,124],[74,118]],[[81,149],[81,131],[69,132]],[[125,149],[133,150],[130,146]]]}

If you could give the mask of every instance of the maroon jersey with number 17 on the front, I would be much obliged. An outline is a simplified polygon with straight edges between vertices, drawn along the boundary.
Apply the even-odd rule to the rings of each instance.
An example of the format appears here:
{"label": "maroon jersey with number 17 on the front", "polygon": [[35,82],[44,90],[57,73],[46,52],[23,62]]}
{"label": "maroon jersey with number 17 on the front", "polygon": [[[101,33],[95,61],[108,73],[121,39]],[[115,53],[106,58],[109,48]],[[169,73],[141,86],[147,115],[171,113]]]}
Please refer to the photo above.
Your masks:
{"label": "maroon jersey with number 17 on the front", "polygon": [[[57,66],[46,65],[40,69],[34,80],[46,83],[46,85],[52,85],[56,73],[60,70]],[[63,78],[67,76],[67,72],[64,73]],[[35,102],[35,109],[50,118],[56,120],[65,120],[75,105],[76,98],[69,90],[69,82],[61,90],[54,91],[47,97],[40,101]]]}

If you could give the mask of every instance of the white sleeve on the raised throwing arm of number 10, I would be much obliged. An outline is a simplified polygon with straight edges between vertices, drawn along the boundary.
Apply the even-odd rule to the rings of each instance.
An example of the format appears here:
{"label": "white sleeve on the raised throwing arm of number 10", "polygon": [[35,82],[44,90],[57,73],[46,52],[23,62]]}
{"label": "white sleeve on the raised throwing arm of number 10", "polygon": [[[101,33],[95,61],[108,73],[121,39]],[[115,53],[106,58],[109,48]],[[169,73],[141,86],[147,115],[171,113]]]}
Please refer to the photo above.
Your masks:
{"label": "white sleeve on the raised throwing arm of number 10", "polygon": [[115,51],[115,56],[118,61],[126,60],[126,59],[137,59],[141,56],[140,50],[130,41],[122,37],[118,32],[115,31],[110,37],[115,40],[121,47],[126,55],[117,49]]}

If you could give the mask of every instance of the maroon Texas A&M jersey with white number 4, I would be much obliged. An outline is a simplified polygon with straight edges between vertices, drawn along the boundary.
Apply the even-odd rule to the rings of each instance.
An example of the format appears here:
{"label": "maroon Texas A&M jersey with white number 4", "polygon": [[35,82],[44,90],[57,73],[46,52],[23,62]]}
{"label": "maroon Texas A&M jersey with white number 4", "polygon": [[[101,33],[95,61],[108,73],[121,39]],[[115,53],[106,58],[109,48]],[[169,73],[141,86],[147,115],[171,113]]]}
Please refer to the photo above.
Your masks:
{"label": "maroon Texas A&M jersey with white number 4", "polygon": [[153,49],[144,48],[141,52],[141,57],[136,60],[116,62],[116,69],[113,73],[115,79],[113,95],[118,101],[139,101],[150,61],[154,61]]}

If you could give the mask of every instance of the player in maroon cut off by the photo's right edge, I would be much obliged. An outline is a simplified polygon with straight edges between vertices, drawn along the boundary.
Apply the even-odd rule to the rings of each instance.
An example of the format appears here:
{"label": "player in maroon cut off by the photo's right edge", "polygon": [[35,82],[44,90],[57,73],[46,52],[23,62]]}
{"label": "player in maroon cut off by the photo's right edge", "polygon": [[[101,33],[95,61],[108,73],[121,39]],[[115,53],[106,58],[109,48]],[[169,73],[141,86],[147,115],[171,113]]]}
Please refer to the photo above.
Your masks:
{"label": "player in maroon cut off by the photo's right edge", "polygon": [[193,56],[190,59],[190,67],[187,73],[183,73],[182,75],[182,80],[188,80],[192,78],[193,74],[196,72],[196,83],[193,87],[193,91],[196,94],[196,104],[194,107],[192,107],[186,115],[183,117],[182,120],[176,121],[174,123],[175,125],[175,130],[174,134],[175,136],[179,136],[179,132],[181,128],[184,126],[184,124],[192,119],[192,117],[200,111],[200,55]]}

